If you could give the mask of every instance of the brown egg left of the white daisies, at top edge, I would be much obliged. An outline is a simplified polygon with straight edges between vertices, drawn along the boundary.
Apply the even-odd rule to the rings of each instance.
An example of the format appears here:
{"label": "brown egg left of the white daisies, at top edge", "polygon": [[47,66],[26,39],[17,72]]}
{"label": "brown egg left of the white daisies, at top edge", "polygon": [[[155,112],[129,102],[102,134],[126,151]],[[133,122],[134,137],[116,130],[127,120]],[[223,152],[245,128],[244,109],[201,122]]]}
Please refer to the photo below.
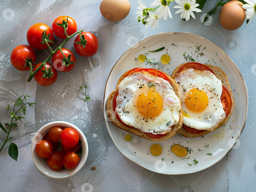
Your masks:
{"label": "brown egg left of the white daisies, at top edge", "polygon": [[128,0],[103,0],[100,11],[110,21],[120,21],[129,14],[131,4]]}

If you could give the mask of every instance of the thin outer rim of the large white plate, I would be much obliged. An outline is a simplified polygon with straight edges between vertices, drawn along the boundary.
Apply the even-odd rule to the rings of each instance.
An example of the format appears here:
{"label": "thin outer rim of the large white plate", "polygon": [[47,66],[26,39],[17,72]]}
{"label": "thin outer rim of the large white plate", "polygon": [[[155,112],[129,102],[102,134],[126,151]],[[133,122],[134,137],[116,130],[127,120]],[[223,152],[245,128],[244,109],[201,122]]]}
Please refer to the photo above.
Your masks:
{"label": "thin outer rim of the large white plate", "polygon": [[[105,119],[106,126],[107,126],[107,119],[105,118],[105,105],[106,105],[106,102],[107,102],[107,101],[105,101],[105,97],[106,97],[106,87],[107,87],[108,79],[109,79],[110,74],[112,73],[114,67],[117,65],[118,61],[126,54],[126,52],[128,52],[128,51],[129,51],[131,48],[133,48],[133,47],[137,47],[137,45],[138,45],[141,41],[146,40],[146,39],[148,39],[148,38],[150,38],[150,37],[153,37],[153,36],[156,36],[156,35],[164,34],[164,33],[165,33],[165,34],[166,34],[166,33],[169,33],[169,34],[180,34],[180,33],[183,33],[183,34],[190,34],[190,36],[196,35],[196,36],[198,36],[199,38],[203,38],[204,40],[206,40],[206,41],[212,43],[213,45],[215,45],[217,48],[221,49],[221,50],[223,51],[224,55],[228,56],[228,59],[230,59],[230,61],[235,65],[234,61],[229,57],[229,55],[228,55],[222,48],[220,48],[219,46],[217,46],[215,43],[209,41],[208,39],[206,39],[206,38],[204,38],[204,37],[202,37],[202,36],[199,36],[199,35],[197,35],[197,34],[194,34],[194,33],[188,33],[188,32],[170,32],[170,31],[169,31],[169,32],[155,33],[155,34],[153,34],[153,35],[150,35],[150,36],[148,36],[148,37],[145,37],[145,38],[143,38],[142,40],[140,40],[139,42],[137,42],[136,44],[134,44],[133,46],[131,46],[130,48],[128,48],[128,49],[120,56],[120,58],[116,61],[116,63],[113,65],[111,71],[109,72],[109,75],[108,75],[107,81],[106,81],[106,85],[105,85],[104,97],[103,97],[103,114],[104,114],[104,119]],[[166,174],[166,173],[162,173],[162,172],[156,172],[156,171],[149,170],[149,169],[143,167],[142,165],[139,165],[137,162],[133,161],[132,159],[128,158],[126,155],[124,155],[124,154],[120,151],[120,149],[117,147],[117,144],[116,144],[116,142],[114,141],[113,136],[112,136],[112,134],[110,133],[109,128],[108,128],[108,126],[107,126],[107,131],[108,131],[108,133],[109,133],[109,135],[110,135],[110,137],[111,137],[111,139],[112,139],[114,145],[115,145],[116,148],[119,150],[119,152],[120,152],[122,155],[124,155],[127,159],[129,159],[130,161],[136,163],[137,165],[143,167],[144,169],[146,169],[146,170],[148,170],[148,171],[155,172],[155,173],[160,173],[160,174],[163,174],[163,175],[184,175],[184,174],[191,174],[191,173],[196,173],[196,172],[204,171],[205,169],[208,169],[209,167],[215,165],[216,163],[218,163],[219,161],[221,161],[221,160],[233,149],[234,145],[236,144],[236,142],[237,142],[238,139],[240,138],[240,136],[241,136],[241,134],[242,134],[242,132],[243,132],[243,130],[244,130],[244,127],[245,127],[245,125],[246,125],[246,121],[247,121],[248,100],[249,100],[249,97],[248,97],[248,90],[247,90],[247,86],[246,86],[246,83],[245,83],[245,81],[244,81],[244,78],[243,78],[243,76],[242,76],[242,74],[241,74],[241,71],[239,70],[239,68],[238,68],[236,65],[235,65],[235,67],[236,67],[236,69],[237,69],[238,72],[239,72],[239,75],[240,75],[240,77],[241,77],[242,83],[243,83],[244,88],[245,88],[245,95],[246,95],[246,113],[245,113],[245,120],[244,120],[244,124],[243,124],[243,126],[242,126],[242,128],[241,128],[241,132],[240,132],[240,134],[237,136],[237,138],[235,139],[235,142],[232,144],[232,147],[225,153],[225,155],[223,155],[221,158],[219,158],[218,160],[216,160],[214,163],[212,163],[212,164],[206,166],[206,167],[203,168],[203,169],[200,169],[199,171],[195,171],[195,172],[192,171],[192,172],[180,173],[180,174],[178,174],[178,173],[177,173],[177,174]]]}

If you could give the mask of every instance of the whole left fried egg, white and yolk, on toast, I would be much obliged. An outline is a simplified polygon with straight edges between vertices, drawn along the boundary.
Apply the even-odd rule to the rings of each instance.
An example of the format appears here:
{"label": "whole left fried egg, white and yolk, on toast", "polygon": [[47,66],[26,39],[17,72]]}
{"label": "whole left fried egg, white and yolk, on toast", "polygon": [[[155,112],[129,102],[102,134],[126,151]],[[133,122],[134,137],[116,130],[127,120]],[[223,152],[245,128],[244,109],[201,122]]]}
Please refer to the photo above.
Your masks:
{"label": "whole left fried egg, white and yolk, on toast", "polygon": [[180,119],[180,99],[163,78],[134,72],[118,85],[116,113],[129,126],[164,134]]}

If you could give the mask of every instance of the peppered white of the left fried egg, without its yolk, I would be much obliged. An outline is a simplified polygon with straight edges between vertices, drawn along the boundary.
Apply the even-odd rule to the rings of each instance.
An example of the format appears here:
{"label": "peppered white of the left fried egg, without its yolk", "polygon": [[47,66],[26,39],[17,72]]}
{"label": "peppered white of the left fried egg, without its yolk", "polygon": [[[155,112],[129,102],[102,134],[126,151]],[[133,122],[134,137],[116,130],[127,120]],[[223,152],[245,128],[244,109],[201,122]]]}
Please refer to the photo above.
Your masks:
{"label": "peppered white of the left fried egg, without its yolk", "polygon": [[[137,109],[137,99],[140,94],[149,90],[149,82],[155,85],[150,89],[159,93],[163,101],[162,112],[153,118],[143,117]],[[168,133],[180,119],[180,99],[170,83],[163,78],[134,72],[120,82],[118,92],[116,112],[129,126],[146,133],[164,134]]]}

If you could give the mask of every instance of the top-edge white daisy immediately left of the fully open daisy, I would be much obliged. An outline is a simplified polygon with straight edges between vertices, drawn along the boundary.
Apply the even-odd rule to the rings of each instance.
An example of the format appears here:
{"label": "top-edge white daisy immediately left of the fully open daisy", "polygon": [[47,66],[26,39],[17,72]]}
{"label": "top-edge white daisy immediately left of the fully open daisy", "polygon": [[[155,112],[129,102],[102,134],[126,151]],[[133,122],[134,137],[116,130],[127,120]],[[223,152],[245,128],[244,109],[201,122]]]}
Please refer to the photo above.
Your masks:
{"label": "top-edge white daisy immediately left of the fully open daisy", "polygon": [[171,11],[168,7],[168,4],[170,2],[171,2],[170,0],[154,0],[154,2],[151,3],[150,7],[158,6],[159,8],[157,9],[157,11],[159,12],[159,18],[163,17],[164,20],[167,20],[168,15],[170,18],[173,18]]}

